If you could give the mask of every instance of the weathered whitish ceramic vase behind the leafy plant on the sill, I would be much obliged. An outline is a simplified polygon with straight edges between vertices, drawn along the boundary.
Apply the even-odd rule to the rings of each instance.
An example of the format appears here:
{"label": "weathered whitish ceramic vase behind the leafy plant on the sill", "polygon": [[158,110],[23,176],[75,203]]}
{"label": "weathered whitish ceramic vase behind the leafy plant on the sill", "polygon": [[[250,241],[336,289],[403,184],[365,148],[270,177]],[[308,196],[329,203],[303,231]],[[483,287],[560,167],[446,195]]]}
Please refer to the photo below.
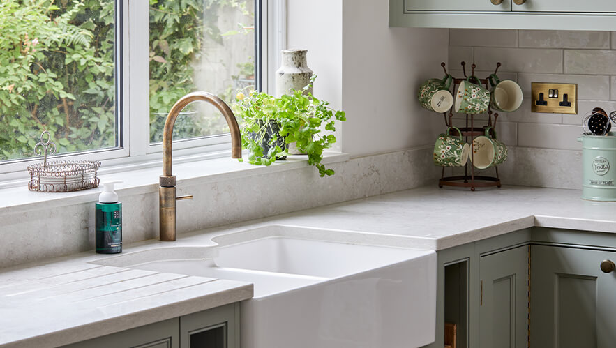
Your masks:
{"label": "weathered whitish ceramic vase behind the leafy plant on the sill", "polygon": [[282,51],[282,63],[276,70],[276,98],[287,94],[290,89],[303,89],[310,84],[313,70],[306,65],[306,53],[307,50]]}

